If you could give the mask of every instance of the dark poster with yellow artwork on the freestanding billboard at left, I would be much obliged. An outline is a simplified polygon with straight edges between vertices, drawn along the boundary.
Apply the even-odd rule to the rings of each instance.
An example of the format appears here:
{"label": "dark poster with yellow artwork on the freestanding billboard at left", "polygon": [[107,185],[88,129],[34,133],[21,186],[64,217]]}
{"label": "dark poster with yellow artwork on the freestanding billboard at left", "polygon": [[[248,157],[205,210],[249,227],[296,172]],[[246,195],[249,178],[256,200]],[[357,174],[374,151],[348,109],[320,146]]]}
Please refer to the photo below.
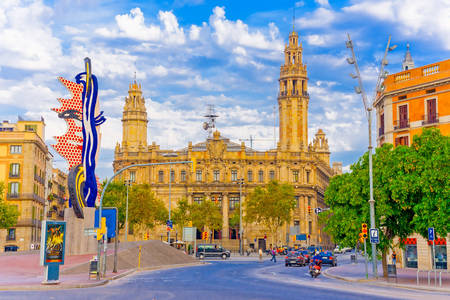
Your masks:
{"label": "dark poster with yellow artwork on the freestanding billboard at left", "polygon": [[43,265],[64,264],[66,246],[66,222],[43,222],[43,245],[41,262]]}

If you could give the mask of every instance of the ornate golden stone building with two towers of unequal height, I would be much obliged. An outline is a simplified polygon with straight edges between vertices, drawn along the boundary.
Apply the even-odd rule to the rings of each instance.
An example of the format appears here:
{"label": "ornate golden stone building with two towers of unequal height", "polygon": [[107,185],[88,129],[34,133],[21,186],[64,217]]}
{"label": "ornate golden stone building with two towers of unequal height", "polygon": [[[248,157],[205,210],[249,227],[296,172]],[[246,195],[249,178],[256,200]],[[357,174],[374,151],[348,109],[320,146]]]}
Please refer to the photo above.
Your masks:
{"label": "ornate golden stone building with two towers of unequal height", "polygon": [[[289,240],[291,245],[330,245],[328,237],[320,230],[314,209],[324,207],[324,191],[335,171],[330,168],[330,151],[325,133],[319,129],[312,143],[308,143],[308,78],[296,32],[289,35],[284,54],[278,95],[280,138],[276,149],[257,151],[246,147],[244,143],[230,141],[217,130],[206,141],[197,144],[189,142],[186,148],[180,150],[160,149],[155,142],[148,145],[145,100],[141,86],[134,81],[125,99],[122,144],[118,143],[115,149],[114,171],[130,164],[187,161],[194,158],[197,166],[195,174],[191,166],[186,164],[130,168],[119,180],[149,183],[156,195],[166,203],[171,180],[172,208],[182,198],[187,198],[191,203],[203,199],[216,201],[222,208],[223,228],[214,233],[214,239],[235,249],[238,245],[237,228],[230,228],[229,216],[240,201],[238,179],[244,179],[244,202],[252,189],[264,186],[271,180],[290,183],[295,189],[297,205],[291,224],[280,228],[276,243],[286,244]],[[339,164],[336,169],[339,169]],[[165,227],[152,232],[151,237],[162,238],[163,234],[165,236]],[[300,234],[302,240],[294,241],[293,234]],[[172,233],[172,237],[175,236]],[[267,239],[264,239],[266,236]],[[244,227],[244,247],[264,248],[270,246],[271,240],[269,233],[258,226]]]}

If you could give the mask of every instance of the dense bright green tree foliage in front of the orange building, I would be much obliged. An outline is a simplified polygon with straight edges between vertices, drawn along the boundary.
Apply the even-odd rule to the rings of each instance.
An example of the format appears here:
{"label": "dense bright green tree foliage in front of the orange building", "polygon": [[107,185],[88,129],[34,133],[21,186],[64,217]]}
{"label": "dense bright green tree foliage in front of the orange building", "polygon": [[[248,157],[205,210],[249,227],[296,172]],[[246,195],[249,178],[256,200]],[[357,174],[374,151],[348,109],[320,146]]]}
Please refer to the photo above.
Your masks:
{"label": "dense bright green tree foliage in front of the orange building", "polygon": [[[361,223],[370,224],[368,153],[350,169],[351,173],[331,179],[325,192],[330,210],[320,216],[325,231],[341,246],[354,246]],[[406,238],[413,232],[426,237],[428,227],[435,227],[438,235],[447,234],[449,172],[449,138],[436,129],[415,136],[411,147],[393,149],[384,144],[376,149],[373,190],[384,273],[385,253],[395,237]]]}

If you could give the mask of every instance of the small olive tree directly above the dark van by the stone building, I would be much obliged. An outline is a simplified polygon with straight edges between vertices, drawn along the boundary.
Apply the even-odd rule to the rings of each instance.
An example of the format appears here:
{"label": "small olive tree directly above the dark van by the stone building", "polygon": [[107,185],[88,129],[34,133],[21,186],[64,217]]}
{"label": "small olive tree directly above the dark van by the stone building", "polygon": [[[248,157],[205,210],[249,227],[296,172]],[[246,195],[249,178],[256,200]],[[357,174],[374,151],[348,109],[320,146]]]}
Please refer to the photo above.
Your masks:
{"label": "small olive tree directly above the dark van by the stone building", "polygon": [[[198,203],[192,203],[190,206],[190,216],[192,225],[198,229],[208,229],[211,232],[222,228],[222,212],[220,206],[211,200],[203,199]],[[210,235],[210,240],[212,236]]]}

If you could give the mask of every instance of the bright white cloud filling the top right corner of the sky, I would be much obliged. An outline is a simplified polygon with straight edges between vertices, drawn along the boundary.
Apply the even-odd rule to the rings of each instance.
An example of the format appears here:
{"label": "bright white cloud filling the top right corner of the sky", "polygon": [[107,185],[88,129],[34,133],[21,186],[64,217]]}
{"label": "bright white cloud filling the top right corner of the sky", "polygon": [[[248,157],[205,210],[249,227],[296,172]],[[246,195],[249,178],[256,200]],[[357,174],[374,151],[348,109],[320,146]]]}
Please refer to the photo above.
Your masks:
{"label": "bright white cloud filling the top right corner of the sky", "polygon": [[450,2],[448,0],[358,1],[344,12],[390,22],[405,37],[423,35],[441,41],[450,49]]}

